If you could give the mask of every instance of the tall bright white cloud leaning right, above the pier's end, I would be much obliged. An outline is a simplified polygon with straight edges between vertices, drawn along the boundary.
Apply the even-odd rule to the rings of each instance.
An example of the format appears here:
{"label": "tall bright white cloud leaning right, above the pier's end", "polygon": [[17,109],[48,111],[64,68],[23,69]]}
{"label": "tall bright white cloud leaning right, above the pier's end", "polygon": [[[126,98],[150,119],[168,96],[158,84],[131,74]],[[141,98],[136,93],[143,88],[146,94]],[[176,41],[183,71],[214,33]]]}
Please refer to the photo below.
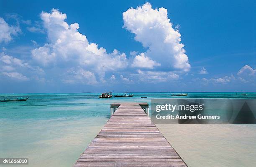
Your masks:
{"label": "tall bright white cloud leaning right, above the pier's end", "polygon": [[[189,60],[184,45],[180,43],[181,35],[178,30],[174,30],[165,8],[152,9],[147,2],[142,7],[124,12],[123,21],[123,27],[135,34],[135,40],[141,42],[143,47],[148,47],[144,57],[151,61],[146,67],[153,68],[152,62],[158,62],[161,68],[189,71]],[[136,56],[134,61],[138,58],[141,57]]]}

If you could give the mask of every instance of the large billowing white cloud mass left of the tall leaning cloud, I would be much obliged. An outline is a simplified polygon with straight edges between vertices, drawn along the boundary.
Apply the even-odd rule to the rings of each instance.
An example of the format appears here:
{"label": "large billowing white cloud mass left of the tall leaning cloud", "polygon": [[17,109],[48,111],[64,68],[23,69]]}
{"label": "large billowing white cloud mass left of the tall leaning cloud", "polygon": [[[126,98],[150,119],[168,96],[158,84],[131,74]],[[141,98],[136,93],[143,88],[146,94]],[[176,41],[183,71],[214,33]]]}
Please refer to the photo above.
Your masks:
{"label": "large billowing white cloud mass left of the tall leaning cloud", "polygon": [[[128,61],[124,53],[118,50],[107,53],[103,47],[89,43],[87,37],[78,32],[77,23],[69,25],[64,21],[67,19],[66,14],[53,9],[50,13],[41,12],[40,16],[49,43],[32,50],[32,58],[39,65],[67,69],[79,66],[84,71],[91,72],[91,76],[97,74],[102,81],[105,72],[127,67]],[[77,73],[81,73],[81,70]]]}

